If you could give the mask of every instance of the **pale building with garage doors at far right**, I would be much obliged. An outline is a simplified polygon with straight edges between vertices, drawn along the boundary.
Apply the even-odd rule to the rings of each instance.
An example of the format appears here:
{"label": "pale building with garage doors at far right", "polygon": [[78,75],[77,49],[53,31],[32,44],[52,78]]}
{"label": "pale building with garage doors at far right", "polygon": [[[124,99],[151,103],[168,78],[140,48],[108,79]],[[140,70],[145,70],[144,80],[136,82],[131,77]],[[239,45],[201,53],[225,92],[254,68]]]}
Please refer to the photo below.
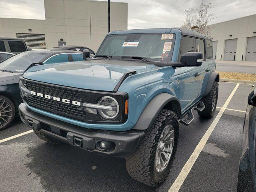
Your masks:
{"label": "pale building with garage doors at far right", "polygon": [[216,60],[256,61],[256,14],[210,26]]}

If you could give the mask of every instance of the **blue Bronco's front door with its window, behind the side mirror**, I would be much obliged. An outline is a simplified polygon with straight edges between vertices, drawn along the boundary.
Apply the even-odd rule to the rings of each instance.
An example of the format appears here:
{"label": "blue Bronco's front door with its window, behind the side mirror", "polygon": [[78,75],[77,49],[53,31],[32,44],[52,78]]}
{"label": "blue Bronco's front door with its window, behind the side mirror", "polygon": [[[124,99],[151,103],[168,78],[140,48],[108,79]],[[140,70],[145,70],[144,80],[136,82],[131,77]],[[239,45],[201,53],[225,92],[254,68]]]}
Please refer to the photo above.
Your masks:
{"label": "blue Bronco's front door with its window, behind the side mirror", "polygon": [[[180,40],[180,52],[178,62],[180,62],[180,56],[187,52],[195,52],[195,39],[192,37],[182,36]],[[199,95],[199,67],[180,67],[176,68],[180,76],[180,92],[179,99],[182,110],[190,106]],[[176,82],[177,83],[177,82]]]}

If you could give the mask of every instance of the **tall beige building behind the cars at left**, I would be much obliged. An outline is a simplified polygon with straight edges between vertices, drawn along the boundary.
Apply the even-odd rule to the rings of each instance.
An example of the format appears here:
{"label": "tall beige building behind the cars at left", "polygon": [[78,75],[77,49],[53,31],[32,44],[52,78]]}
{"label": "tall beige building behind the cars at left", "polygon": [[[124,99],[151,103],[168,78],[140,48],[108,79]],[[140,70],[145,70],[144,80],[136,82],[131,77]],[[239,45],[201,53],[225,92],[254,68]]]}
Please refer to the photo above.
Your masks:
{"label": "tall beige building behind the cars at left", "polygon": [[[66,44],[96,51],[108,33],[106,1],[44,0],[44,9],[45,20],[0,18],[0,36],[23,37],[34,49]],[[110,3],[110,28],[127,29],[127,3]]]}

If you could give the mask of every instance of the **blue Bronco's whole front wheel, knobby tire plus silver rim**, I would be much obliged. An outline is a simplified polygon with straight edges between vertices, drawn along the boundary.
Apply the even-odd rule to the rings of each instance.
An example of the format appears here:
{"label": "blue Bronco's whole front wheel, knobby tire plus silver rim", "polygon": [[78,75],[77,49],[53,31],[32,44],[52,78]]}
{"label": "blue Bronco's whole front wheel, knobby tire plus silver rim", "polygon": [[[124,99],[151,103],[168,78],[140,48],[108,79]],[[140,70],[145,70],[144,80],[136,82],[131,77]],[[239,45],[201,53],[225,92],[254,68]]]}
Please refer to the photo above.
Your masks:
{"label": "blue Bronco's whole front wheel, knobby tire plus silver rim", "polygon": [[170,172],[178,146],[178,117],[163,109],[134,154],[126,157],[126,169],[135,180],[158,186]]}

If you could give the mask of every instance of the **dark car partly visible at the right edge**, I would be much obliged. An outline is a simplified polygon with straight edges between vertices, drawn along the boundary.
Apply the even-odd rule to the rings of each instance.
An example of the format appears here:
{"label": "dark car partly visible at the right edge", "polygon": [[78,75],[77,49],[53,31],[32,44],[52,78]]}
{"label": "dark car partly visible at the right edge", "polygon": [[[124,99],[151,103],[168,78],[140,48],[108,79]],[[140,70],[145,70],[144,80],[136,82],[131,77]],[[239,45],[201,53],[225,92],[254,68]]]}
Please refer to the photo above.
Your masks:
{"label": "dark car partly visible at the right edge", "polygon": [[256,191],[256,88],[248,96],[237,192]]}

